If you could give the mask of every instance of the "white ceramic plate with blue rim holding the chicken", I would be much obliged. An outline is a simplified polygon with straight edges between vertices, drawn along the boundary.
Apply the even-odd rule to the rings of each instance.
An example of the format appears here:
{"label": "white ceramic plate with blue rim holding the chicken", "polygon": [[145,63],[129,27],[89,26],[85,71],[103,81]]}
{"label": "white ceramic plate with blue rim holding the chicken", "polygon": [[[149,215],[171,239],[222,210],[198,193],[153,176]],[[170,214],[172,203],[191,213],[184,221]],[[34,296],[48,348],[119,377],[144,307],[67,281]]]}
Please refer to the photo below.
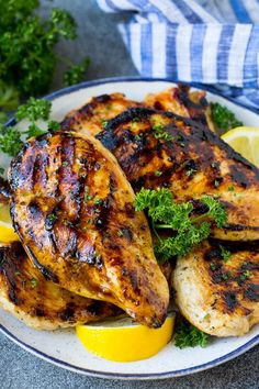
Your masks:
{"label": "white ceramic plate with blue rim holding the chicken", "polygon": [[[116,78],[85,82],[48,98],[53,100],[53,119],[61,120],[69,110],[81,105],[92,96],[123,92],[130,99],[142,100],[146,93],[172,86],[170,81],[157,79]],[[255,112],[211,92],[207,92],[207,99],[227,105],[246,125],[259,127],[259,115]],[[3,156],[0,158],[2,165]],[[23,348],[55,365],[80,374],[121,379],[158,379],[204,370],[245,353],[259,342],[259,326],[256,326],[241,337],[214,338],[205,348],[179,349],[170,343],[153,358],[125,364],[108,362],[88,353],[74,330],[34,331],[2,310],[0,330]]]}

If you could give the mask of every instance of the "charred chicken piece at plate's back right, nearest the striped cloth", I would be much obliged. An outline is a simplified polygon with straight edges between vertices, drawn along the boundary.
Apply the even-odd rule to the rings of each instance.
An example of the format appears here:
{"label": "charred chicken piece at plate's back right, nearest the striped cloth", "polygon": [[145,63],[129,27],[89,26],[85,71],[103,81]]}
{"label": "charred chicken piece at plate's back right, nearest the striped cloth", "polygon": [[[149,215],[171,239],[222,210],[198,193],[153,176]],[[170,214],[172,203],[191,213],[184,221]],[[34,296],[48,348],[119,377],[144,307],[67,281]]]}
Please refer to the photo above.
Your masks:
{"label": "charred chicken piece at plate's back right, nearest the striped cloth", "polygon": [[159,111],[169,111],[209,125],[214,131],[206,92],[190,91],[190,87],[179,86],[158,93],[147,95],[145,104]]}

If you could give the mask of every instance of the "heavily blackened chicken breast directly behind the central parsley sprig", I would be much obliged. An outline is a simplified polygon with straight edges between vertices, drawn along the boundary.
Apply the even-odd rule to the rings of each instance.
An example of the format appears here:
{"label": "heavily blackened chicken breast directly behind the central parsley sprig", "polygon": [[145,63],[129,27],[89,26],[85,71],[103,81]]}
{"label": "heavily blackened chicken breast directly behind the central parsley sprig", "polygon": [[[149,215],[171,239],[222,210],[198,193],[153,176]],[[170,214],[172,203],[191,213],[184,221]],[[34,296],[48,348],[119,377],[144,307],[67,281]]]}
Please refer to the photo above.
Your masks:
{"label": "heavily blackened chicken breast directly behind the central parsley sprig", "polygon": [[[223,240],[259,238],[259,170],[206,126],[170,112],[133,108],[97,135],[120,163],[135,191],[169,188],[177,201],[215,196],[228,223],[213,227]],[[159,171],[159,175],[157,175]]]}

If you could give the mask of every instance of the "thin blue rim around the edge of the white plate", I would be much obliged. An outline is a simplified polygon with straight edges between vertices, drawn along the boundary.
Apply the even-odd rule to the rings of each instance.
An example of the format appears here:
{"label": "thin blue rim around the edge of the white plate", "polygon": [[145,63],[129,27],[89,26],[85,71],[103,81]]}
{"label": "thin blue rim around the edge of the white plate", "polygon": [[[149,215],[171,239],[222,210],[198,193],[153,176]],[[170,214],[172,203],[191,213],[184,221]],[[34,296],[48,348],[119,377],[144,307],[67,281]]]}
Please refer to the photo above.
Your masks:
{"label": "thin blue rim around the edge of the white plate", "polygon": [[[148,78],[148,77],[111,77],[111,78],[102,78],[102,79],[98,79],[98,80],[93,80],[93,81],[86,81],[86,82],[81,82],[68,88],[64,88],[60,89],[58,91],[55,91],[50,95],[47,95],[46,97],[44,97],[44,99],[47,100],[55,100],[61,96],[75,92],[77,90],[80,89],[86,89],[86,88],[90,88],[90,87],[95,87],[99,85],[103,85],[103,84],[114,84],[114,82],[134,82],[134,81],[148,81],[148,82],[159,82],[159,81],[165,81],[165,82],[173,82],[173,84],[178,84],[176,80],[170,79],[170,78]],[[184,85],[190,85],[193,88],[196,89],[201,89],[201,90],[206,90],[215,96],[219,96],[222,98],[224,98],[225,100],[229,100],[233,103],[235,103],[236,105],[243,107],[244,109],[255,112],[258,114],[256,109],[252,108],[247,108],[244,104],[236,102],[234,99],[232,98],[226,98],[225,96],[221,95],[221,93],[215,93],[213,88],[210,87],[204,87],[201,84],[195,84],[195,82],[181,82]],[[14,119],[9,120],[9,122],[7,123],[8,125],[13,125],[15,123]],[[180,377],[180,376],[187,376],[193,373],[199,373],[215,366],[218,366],[225,362],[228,362],[241,354],[244,354],[245,352],[247,352],[248,349],[252,348],[254,346],[256,346],[259,343],[259,335],[256,335],[255,337],[252,337],[250,341],[248,341],[247,343],[245,343],[244,345],[241,345],[240,347],[234,349],[233,352],[215,358],[206,364],[202,364],[202,365],[198,365],[198,366],[193,366],[190,368],[185,368],[185,369],[180,369],[180,370],[172,370],[172,371],[164,371],[164,373],[155,373],[155,374],[120,374],[120,373],[109,373],[109,371],[97,371],[97,370],[91,370],[91,369],[87,369],[87,368],[82,368],[82,367],[78,367],[76,365],[71,365],[68,364],[64,360],[57,359],[55,357],[52,357],[45,353],[42,353],[41,351],[30,346],[29,344],[26,344],[25,342],[21,341],[19,337],[16,337],[14,334],[12,334],[9,330],[7,330],[2,324],[0,324],[0,331],[7,335],[7,337],[9,337],[10,340],[12,340],[15,344],[20,345],[22,348],[29,351],[31,354],[34,354],[36,356],[38,356],[40,358],[49,362],[56,366],[66,368],[70,371],[74,373],[79,373],[82,375],[88,375],[88,376],[93,376],[93,377],[99,377],[99,378],[110,378],[110,379],[124,379],[124,380],[133,380],[133,379],[142,379],[142,380],[147,380],[147,379],[166,379],[166,378],[173,378],[173,377]]]}

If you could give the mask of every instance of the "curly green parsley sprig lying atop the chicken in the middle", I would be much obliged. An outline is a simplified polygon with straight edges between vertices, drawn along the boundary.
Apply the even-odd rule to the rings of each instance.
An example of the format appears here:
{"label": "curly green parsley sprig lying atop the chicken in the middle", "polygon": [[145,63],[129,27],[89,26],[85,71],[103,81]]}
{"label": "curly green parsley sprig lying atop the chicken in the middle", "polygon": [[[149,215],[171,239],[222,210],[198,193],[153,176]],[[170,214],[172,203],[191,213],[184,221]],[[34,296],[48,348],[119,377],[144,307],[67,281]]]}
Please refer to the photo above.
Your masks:
{"label": "curly green parsley sprig lying atop the chicken in the middle", "polygon": [[[227,215],[223,205],[213,197],[204,196],[201,202],[207,211],[193,216],[191,202],[177,203],[168,189],[145,189],[136,194],[136,211],[147,211],[151,229],[156,236],[155,254],[160,263],[173,256],[188,254],[192,247],[204,241],[211,233],[211,221],[222,227]],[[159,230],[170,232],[162,237]]]}

